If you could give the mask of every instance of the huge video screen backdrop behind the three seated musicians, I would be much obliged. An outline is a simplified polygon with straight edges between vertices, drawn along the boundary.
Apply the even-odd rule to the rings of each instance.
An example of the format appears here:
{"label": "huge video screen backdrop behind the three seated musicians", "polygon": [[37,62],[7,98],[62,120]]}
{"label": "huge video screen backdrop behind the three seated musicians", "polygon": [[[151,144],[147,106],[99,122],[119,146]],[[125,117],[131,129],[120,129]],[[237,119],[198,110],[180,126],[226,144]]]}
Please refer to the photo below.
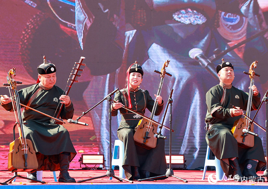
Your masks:
{"label": "huge video screen backdrop behind the three seated musicians", "polygon": [[[165,75],[160,90],[165,108],[154,119],[172,126],[172,154],[183,154],[189,169],[202,167],[207,147],[205,94],[219,84],[215,68],[222,58],[234,66],[233,86],[245,92],[250,78],[243,71],[249,71],[251,63],[258,60],[255,72],[261,76],[255,77],[255,85],[261,96],[268,88],[268,33],[262,32],[267,30],[267,7],[267,1],[2,1],[0,81],[7,83],[7,73],[15,67],[14,79],[22,82],[18,90],[35,85],[36,68],[45,55],[56,65],[56,85],[64,90],[75,62],[85,57],[86,65],[69,96],[75,109],[73,119],[82,116],[79,121],[88,126],[67,121],[63,124],[77,151],[70,168],[80,168],[82,154],[104,154],[108,166],[110,129],[113,145],[118,139],[121,115],[112,117],[109,124],[109,102],[105,97],[116,88],[124,88],[127,68],[137,61],[144,71],[140,88],[148,90],[154,99],[161,81],[154,70],[161,71],[169,60],[166,72],[172,76]],[[199,56],[192,54],[195,48]],[[173,103],[166,108],[172,89]],[[9,90],[2,86],[0,93],[9,95]],[[3,170],[7,169],[15,115],[2,107],[0,115]],[[145,115],[150,116],[150,112],[147,110]],[[255,120],[265,125],[264,105]],[[265,133],[257,126],[254,131],[265,146]],[[169,138],[168,129],[163,128],[161,133]],[[165,146],[168,154],[169,140]]]}

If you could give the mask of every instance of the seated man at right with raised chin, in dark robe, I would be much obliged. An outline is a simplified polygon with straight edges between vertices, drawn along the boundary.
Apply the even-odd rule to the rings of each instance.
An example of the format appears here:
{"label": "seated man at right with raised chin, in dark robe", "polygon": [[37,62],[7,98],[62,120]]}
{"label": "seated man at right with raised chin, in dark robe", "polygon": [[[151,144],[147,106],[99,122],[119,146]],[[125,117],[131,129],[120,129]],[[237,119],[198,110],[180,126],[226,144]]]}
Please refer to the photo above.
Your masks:
{"label": "seated man at right with raised chin, in dark robe", "polygon": [[[221,167],[226,176],[232,175],[236,181],[241,181],[243,176],[261,179],[256,174],[256,171],[266,164],[261,139],[254,137],[254,146],[244,149],[237,145],[237,140],[231,132],[234,122],[247,108],[249,95],[232,86],[234,72],[231,63],[223,62],[216,67],[216,71],[220,83],[206,93],[208,110],[205,122],[208,124],[206,133],[208,146],[221,160]],[[253,91],[251,110],[256,110],[260,105],[261,96],[255,85],[251,89]]]}

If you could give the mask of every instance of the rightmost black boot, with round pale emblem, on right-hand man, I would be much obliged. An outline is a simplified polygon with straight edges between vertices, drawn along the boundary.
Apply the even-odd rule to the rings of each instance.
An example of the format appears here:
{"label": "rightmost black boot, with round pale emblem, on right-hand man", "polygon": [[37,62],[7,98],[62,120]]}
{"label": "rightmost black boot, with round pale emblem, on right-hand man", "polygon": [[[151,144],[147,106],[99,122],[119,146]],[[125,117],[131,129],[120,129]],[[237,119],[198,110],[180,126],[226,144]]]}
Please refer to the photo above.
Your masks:
{"label": "rightmost black boot, with round pale emblem, on right-hand man", "polygon": [[250,180],[254,180],[256,182],[262,182],[265,181],[264,177],[260,177],[256,174],[256,167],[258,165],[258,162],[255,160],[246,160],[245,161],[245,167],[243,171],[243,176],[248,177]]}

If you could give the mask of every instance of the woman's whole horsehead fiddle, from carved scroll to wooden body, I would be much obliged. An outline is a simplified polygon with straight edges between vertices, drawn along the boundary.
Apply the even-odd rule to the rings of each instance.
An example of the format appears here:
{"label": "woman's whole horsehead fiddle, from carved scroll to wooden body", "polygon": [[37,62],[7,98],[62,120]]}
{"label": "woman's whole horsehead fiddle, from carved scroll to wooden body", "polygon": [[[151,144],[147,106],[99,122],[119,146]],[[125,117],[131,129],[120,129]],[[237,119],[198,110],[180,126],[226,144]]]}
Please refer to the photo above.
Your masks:
{"label": "woman's whole horsehead fiddle, from carved scroll to wooden body", "polygon": [[[168,67],[168,65],[169,65],[169,60],[167,60],[163,64],[161,72],[155,70],[155,72],[160,74],[160,77],[161,77],[156,96],[160,95],[165,75],[167,74],[168,76],[172,76],[171,74],[166,72],[166,67]],[[157,142],[157,138],[154,138],[154,135],[157,132],[157,126],[155,128],[155,125],[154,125],[155,121],[153,121],[157,103],[158,102],[155,99],[155,103],[154,103],[152,113],[149,119],[142,118],[139,121],[138,125],[135,127],[135,133],[134,133],[135,144],[146,149],[155,148],[156,142]]]}

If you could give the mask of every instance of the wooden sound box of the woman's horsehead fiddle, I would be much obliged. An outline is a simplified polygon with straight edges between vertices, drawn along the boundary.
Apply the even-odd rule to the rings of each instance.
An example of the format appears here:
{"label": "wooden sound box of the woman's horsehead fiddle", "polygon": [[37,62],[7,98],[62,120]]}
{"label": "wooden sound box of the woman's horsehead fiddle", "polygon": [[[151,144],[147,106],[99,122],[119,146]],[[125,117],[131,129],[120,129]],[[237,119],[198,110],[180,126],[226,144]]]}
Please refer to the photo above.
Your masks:
{"label": "wooden sound box of the woman's horsehead fiddle", "polygon": [[[148,126],[148,119],[143,118],[139,121],[135,127],[134,141],[136,145],[149,150],[156,146],[157,138],[154,138],[154,135],[157,134],[157,125],[152,123],[151,129],[147,132]],[[144,140],[145,138],[150,140]]]}

